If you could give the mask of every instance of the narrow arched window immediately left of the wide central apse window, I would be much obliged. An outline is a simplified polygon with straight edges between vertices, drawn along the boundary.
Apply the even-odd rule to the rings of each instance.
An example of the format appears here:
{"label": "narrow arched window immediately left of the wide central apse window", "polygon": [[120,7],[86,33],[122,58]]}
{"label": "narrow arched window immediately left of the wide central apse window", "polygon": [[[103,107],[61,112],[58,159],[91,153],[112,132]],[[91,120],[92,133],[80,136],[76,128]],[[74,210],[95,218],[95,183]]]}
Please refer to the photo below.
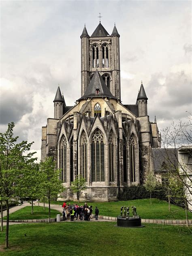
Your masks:
{"label": "narrow arched window immediately left of the wide central apse window", "polygon": [[85,132],[81,135],[81,168],[80,172],[83,178],[87,180],[87,136]]}

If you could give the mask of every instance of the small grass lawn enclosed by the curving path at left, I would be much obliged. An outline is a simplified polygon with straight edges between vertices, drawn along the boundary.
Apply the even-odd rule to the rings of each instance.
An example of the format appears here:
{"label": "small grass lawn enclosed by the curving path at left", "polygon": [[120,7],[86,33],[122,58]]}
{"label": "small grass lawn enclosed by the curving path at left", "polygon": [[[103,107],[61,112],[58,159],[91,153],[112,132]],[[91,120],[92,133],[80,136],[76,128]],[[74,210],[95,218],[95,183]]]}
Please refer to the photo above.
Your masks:
{"label": "small grass lawn enclosed by the curving path at left", "polygon": [[[51,209],[51,218],[56,218],[56,215],[60,213],[59,211]],[[48,219],[49,218],[49,208],[41,206],[34,206],[33,207],[33,214],[31,214],[31,206],[26,206],[14,213],[9,215],[9,220],[32,220],[32,219]],[[3,218],[6,220],[6,217]]]}

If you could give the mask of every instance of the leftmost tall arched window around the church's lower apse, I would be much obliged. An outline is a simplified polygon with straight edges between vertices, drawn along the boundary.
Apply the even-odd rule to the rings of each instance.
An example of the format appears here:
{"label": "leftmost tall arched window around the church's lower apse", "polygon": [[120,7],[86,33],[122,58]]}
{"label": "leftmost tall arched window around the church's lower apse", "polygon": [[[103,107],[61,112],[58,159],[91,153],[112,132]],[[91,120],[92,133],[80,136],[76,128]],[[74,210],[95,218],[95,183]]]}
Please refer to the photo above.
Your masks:
{"label": "leftmost tall arched window around the church's lower apse", "polygon": [[67,173],[67,140],[66,137],[63,137],[61,143],[61,179],[63,182],[66,182],[66,173]]}

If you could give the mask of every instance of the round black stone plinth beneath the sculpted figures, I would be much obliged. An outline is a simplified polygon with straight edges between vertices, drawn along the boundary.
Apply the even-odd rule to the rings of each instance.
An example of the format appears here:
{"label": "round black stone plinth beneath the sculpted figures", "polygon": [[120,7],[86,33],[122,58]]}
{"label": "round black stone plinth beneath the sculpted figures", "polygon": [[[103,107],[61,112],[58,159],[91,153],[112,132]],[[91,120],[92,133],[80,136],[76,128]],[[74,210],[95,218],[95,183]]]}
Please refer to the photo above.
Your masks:
{"label": "round black stone plinth beneath the sculpted figures", "polygon": [[117,226],[124,228],[142,228],[144,226],[141,225],[141,218],[139,216],[136,217],[122,217],[117,216]]}

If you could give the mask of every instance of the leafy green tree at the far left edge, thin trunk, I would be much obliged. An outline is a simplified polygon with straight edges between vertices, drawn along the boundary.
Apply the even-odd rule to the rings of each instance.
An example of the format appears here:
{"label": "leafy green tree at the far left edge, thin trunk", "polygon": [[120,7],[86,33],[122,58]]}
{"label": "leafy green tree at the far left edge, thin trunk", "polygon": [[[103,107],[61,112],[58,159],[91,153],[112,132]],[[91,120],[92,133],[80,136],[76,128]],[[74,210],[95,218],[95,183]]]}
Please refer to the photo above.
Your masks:
{"label": "leafy green tree at the far left edge, thin trunk", "polygon": [[6,202],[6,248],[9,241],[9,202],[19,196],[27,166],[36,160],[32,158],[35,152],[25,153],[30,150],[33,142],[16,143],[18,137],[13,137],[14,126],[15,124],[11,122],[7,131],[4,134],[0,133],[0,191],[1,200]]}

